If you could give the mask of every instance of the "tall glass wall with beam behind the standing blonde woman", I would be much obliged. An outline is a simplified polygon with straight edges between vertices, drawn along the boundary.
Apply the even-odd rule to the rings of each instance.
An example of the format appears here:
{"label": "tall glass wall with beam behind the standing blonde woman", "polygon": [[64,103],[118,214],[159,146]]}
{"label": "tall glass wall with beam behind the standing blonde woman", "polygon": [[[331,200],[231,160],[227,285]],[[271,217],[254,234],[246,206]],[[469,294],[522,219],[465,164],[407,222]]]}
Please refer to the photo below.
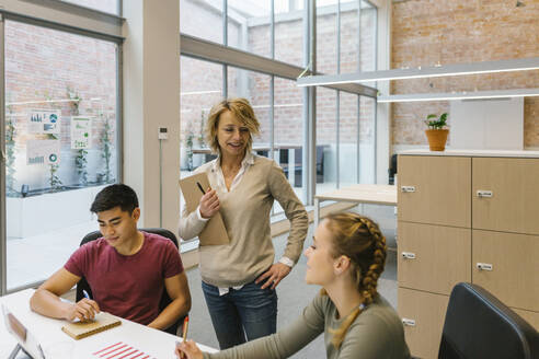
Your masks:
{"label": "tall glass wall with beam behind the standing blonde woman", "polygon": [[[194,118],[191,115],[193,109],[187,108],[191,100],[188,104],[185,101],[190,91],[196,92],[193,84],[208,84],[207,81],[197,81],[198,73],[202,69],[209,69],[208,63],[214,62],[210,70],[203,71],[206,73],[203,79],[209,73],[213,78],[222,73],[220,83],[211,86],[211,100],[215,103],[223,97],[243,96],[251,101],[261,121],[261,136],[254,139],[254,149],[280,164],[299,198],[307,205],[310,205],[313,193],[308,193],[310,187],[306,187],[302,172],[312,173],[308,170],[309,163],[316,166],[316,178],[311,181],[316,182],[317,193],[359,182],[372,183],[376,165],[372,152],[376,121],[372,104],[376,101],[369,103],[367,100],[370,97],[362,95],[360,91],[319,88],[317,116],[309,118],[305,107],[307,90],[296,86],[295,80],[306,67],[310,67],[306,50],[309,47],[309,26],[313,21],[317,27],[317,72],[376,69],[377,9],[367,1],[316,1],[317,15],[309,19],[309,4],[308,0],[180,0],[181,19],[190,18],[180,23],[184,36],[182,44],[187,39],[205,48],[198,53],[190,46],[181,49],[182,66],[196,61],[200,65],[198,69],[182,68],[182,138],[193,138],[190,136],[192,128],[205,120]],[[211,27],[211,33],[208,28],[197,30],[197,24],[209,22],[215,24],[206,26]],[[240,60],[234,61],[233,58]],[[290,71],[284,73],[285,67]],[[202,109],[195,112],[198,114]],[[312,141],[317,151],[303,159],[309,126],[316,126],[317,136]],[[192,140],[185,143],[186,147],[197,147],[192,144]],[[200,146],[202,149],[195,149],[192,154],[187,151],[187,158],[192,155],[193,159],[197,157],[196,152],[204,152],[190,170],[215,158],[209,154],[206,143],[200,142]],[[187,167],[182,165],[182,169]],[[182,175],[188,173],[183,171]],[[276,205],[274,213],[280,211]]]}

